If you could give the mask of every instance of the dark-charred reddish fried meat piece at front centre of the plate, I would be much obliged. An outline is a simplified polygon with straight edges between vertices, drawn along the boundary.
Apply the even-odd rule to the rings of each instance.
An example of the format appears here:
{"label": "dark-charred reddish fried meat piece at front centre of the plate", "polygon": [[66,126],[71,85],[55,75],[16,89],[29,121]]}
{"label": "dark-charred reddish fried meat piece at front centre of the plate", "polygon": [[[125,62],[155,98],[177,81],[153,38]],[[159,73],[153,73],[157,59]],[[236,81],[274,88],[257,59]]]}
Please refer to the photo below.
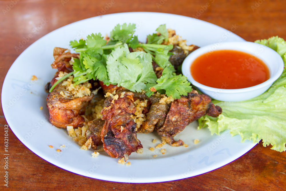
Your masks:
{"label": "dark-charred reddish fried meat piece at front centre of the plate", "polygon": [[123,97],[108,96],[104,101],[102,119],[105,120],[101,132],[104,150],[114,158],[130,155],[143,148],[136,135],[136,123],[131,115],[136,108],[133,104],[133,93],[126,92]]}

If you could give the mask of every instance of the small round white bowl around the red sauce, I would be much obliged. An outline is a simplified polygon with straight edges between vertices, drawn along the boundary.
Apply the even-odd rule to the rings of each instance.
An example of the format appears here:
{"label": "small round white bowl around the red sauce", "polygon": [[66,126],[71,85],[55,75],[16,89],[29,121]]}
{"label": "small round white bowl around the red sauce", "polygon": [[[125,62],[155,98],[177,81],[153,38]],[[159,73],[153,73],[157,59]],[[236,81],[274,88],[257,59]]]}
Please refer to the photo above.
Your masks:
{"label": "small round white bowl around the red sauce", "polygon": [[[256,86],[241,89],[212,88],[196,82],[190,73],[190,66],[192,62],[198,56],[207,52],[211,53],[215,50],[238,50],[256,56],[268,66],[270,72],[269,80]],[[273,82],[279,78],[283,72],[283,68],[283,60],[276,51],[258,43],[239,41],[210,44],[198,48],[185,58],[182,64],[182,73],[188,78],[188,81],[191,82],[192,86],[196,86],[202,93],[207,94],[212,99],[219,101],[244,101],[257,97],[265,92],[273,84]]]}

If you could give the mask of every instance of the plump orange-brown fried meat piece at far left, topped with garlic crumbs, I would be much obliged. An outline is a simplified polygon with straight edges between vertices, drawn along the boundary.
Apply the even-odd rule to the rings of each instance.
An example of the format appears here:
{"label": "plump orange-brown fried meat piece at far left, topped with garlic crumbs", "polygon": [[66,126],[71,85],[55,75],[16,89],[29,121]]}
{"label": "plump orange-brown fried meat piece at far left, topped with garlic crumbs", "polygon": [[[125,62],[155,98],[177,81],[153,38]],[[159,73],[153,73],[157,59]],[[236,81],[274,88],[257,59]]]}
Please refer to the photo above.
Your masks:
{"label": "plump orange-brown fried meat piece at far left, topped with garlic crumbs", "polygon": [[74,128],[81,127],[85,122],[80,115],[84,114],[84,109],[94,94],[78,98],[74,98],[72,95],[63,97],[60,92],[67,90],[61,86],[61,83],[47,97],[49,120],[56,127],[66,128],[69,125]]}

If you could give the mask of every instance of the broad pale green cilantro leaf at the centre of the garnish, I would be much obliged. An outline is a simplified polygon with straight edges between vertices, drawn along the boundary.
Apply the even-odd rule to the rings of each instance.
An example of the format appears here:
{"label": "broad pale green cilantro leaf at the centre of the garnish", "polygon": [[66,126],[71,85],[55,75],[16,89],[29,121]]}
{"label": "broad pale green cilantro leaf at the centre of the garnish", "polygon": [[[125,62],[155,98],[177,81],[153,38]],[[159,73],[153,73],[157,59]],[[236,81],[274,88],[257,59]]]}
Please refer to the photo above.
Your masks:
{"label": "broad pale green cilantro leaf at the centre of the garnish", "polygon": [[112,51],[106,64],[110,83],[131,91],[141,92],[146,89],[146,83],[155,83],[157,79],[152,69],[151,55],[145,52],[130,53],[127,44]]}

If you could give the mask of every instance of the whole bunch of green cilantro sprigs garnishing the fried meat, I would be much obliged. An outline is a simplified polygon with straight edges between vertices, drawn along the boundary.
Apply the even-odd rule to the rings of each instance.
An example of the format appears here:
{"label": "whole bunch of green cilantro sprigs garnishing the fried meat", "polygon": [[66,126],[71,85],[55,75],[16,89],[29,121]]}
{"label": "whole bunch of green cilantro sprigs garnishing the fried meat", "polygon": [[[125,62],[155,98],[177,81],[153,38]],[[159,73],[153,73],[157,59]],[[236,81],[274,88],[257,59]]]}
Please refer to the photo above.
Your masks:
{"label": "whole bunch of green cilantro sprigs garnishing the fried meat", "polygon": [[[63,76],[57,84],[70,75],[74,75],[75,84],[91,79],[98,79],[105,85],[118,85],[131,91],[146,91],[151,96],[159,91],[179,99],[192,90],[185,76],[176,75],[175,69],[169,62],[172,45],[168,42],[166,25],[160,25],[152,35],[147,36],[147,43],[143,44],[134,36],[135,24],[116,25],[110,32],[107,42],[102,34],[90,34],[86,40],[71,41],[70,46],[80,53],[80,58],[73,58],[73,72]],[[129,48],[142,47],[145,52],[130,52]],[[160,78],[156,77],[152,61],[163,68]],[[57,85],[55,84],[51,89]]]}

